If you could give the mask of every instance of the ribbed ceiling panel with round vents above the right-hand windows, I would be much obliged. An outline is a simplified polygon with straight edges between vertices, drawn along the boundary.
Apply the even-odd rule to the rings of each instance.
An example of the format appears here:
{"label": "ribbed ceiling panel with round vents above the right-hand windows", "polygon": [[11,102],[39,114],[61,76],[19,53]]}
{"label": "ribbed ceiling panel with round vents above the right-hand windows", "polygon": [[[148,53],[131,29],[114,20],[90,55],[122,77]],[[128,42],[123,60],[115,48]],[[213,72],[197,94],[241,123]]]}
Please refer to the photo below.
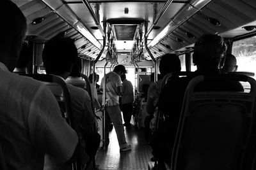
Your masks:
{"label": "ribbed ceiling panel with round vents above the right-hand windows", "polygon": [[[232,38],[241,34],[246,34],[241,27],[256,22],[256,1],[254,0],[216,0],[211,1],[202,10],[198,11],[193,17],[189,18],[179,27],[168,33],[161,43],[168,44],[173,50],[179,50],[184,46],[195,43],[202,34],[218,33],[224,37]],[[219,20],[221,25],[212,25],[209,18]],[[195,38],[188,38],[186,31],[190,32]],[[180,38],[184,43],[178,42],[175,38]],[[163,45],[158,43],[159,48]],[[156,46],[157,47],[157,46]]]}

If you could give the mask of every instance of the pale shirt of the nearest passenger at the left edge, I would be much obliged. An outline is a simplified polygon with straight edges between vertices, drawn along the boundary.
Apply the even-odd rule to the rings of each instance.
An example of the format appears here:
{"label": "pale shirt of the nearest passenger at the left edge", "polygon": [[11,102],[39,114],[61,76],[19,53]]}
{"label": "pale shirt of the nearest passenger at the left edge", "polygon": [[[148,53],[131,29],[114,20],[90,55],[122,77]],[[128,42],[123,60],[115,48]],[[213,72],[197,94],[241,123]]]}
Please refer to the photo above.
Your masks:
{"label": "pale shirt of the nearest passenger at the left edge", "polygon": [[72,156],[76,132],[44,83],[10,73],[0,62],[0,138],[8,169],[43,169],[45,153]]}

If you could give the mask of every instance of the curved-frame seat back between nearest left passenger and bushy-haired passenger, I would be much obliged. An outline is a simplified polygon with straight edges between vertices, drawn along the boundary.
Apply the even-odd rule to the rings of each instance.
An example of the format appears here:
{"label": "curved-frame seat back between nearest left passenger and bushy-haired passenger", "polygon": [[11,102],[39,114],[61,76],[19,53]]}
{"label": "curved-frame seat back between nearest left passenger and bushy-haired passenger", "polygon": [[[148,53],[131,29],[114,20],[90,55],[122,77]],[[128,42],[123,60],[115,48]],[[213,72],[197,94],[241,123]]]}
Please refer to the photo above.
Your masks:
{"label": "curved-frame seat back between nearest left passenger and bushy-haired passenger", "polygon": [[[60,106],[61,111],[63,108],[65,113],[63,117],[67,120],[67,123],[78,132],[79,129],[76,124],[74,124],[74,116],[72,114],[72,105],[70,101],[70,92],[68,90],[67,84],[63,78],[60,76],[52,75],[52,74],[23,74],[23,76],[29,76],[38,81],[44,81],[47,87],[51,89],[52,94],[56,97],[58,104]],[[79,170],[81,169],[80,158],[77,159],[77,162],[72,164],[72,169]],[[83,162],[84,164],[84,162]],[[85,166],[85,165],[84,165]]]}

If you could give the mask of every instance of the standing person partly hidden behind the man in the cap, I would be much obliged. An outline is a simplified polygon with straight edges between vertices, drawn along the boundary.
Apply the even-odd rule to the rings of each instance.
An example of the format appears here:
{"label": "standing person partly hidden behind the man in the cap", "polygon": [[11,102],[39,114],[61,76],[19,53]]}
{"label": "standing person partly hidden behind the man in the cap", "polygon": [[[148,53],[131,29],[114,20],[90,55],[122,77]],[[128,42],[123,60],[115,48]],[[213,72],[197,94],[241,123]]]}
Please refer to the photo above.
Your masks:
{"label": "standing person partly hidden behind the man in the cap", "polygon": [[132,102],[134,100],[133,88],[131,81],[126,79],[125,74],[121,75],[121,80],[123,81],[122,86],[122,111],[124,116],[124,126],[129,127],[131,124],[132,117]]}

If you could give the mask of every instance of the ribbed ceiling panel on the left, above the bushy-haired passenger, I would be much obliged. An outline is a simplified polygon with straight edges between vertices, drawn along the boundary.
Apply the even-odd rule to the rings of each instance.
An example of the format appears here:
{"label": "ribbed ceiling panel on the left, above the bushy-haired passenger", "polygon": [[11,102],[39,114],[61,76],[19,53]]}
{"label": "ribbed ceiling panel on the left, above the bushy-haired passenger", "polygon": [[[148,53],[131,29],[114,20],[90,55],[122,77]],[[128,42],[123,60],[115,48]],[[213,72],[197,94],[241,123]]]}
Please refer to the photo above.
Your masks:
{"label": "ribbed ceiling panel on the left, above the bushy-haired passenger", "polygon": [[[17,6],[19,6],[22,13],[24,13],[28,24],[28,36],[31,41],[37,41],[38,43],[44,43],[48,39],[56,36],[60,32],[66,32],[65,37],[75,39],[77,48],[81,48],[84,44],[88,43],[88,40],[83,38],[83,35],[77,31],[78,19],[72,11],[67,10],[67,6],[62,1],[47,1],[44,0],[12,0]],[[46,4],[45,4],[46,3]],[[49,6],[51,6],[51,8]],[[63,17],[63,18],[61,18]],[[38,24],[31,24],[35,18],[44,17],[44,20]],[[95,53],[99,53],[99,49],[95,49],[93,53],[94,57],[97,57]],[[92,57],[92,56],[91,56]]]}

